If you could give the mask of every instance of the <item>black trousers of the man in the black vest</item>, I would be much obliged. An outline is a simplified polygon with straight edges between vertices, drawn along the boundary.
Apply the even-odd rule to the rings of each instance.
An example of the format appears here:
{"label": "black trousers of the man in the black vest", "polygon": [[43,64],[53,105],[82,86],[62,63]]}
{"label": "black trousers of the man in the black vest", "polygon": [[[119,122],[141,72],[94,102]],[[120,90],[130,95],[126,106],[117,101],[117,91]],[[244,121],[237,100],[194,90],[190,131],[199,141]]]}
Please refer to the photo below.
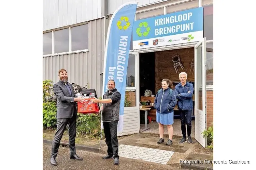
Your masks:
{"label": "black trousers of the man in the black vest", "polygon": [[114,122],[103,122],[104,134],[106,138],[106,145],[108,146],[108,155],[114,155],[114,158],[118,156],[118,139],[117,139],[117,124]]}

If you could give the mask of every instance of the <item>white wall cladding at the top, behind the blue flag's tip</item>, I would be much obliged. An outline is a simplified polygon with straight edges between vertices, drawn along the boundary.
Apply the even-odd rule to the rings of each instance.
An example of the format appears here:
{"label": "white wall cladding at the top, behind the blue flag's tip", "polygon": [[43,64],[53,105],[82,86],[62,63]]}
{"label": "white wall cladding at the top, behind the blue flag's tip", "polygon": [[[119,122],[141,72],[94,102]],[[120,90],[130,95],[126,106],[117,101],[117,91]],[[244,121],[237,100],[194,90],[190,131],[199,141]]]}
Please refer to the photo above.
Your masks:
{"label": "white wall cladding at the top, behind the blue flag's tip", "polygon": [[122,4],[126,2],[138,2],[138,6],[147,5],[150,3],[160,2],[160,1],[166,1],[166,0],[108,0],[108,14],[112,14],[115,12],[115,10]]}

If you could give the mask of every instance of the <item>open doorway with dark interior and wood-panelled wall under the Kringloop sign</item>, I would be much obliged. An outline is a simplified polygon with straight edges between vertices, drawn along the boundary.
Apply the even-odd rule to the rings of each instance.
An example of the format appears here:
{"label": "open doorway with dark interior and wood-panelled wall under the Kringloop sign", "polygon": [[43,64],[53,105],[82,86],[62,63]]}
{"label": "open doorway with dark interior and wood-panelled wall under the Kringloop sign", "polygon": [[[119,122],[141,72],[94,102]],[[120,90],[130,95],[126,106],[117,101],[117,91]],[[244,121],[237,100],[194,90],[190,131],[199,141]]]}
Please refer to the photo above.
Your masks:
{"label": "open doorway with dark interior and wood-panelled wall under the Kringloop sign", "polygon": [[[177,71],[174,68],[174,63],[172,57],[179,56],[182,67],[177,67]],[[140,78],[140,103],[142,105],[148,99],[151,99],[151,103],[154,103],[154,97],[145,97],[145,91],[152,91],[152,95],[156,95],[156,92],[161,88],[161,80],[169,79],[173,82],[173,90],[177,84],[180,83],[179,73],[186,72],[188,74],[187,81],[192,83],[195,86],[195,70],[194,70],[194,57],[195,50],[194,47],[183,48],[183,49],[173,49],[166,51],[155,51],[155,52],[146,52],[140,53],[139,56],[139,78]],[[194,95],[193,95],[194,99]],[[193,104],[194,104],[193,100]],[[140,115],[143,115],[144,112],[140,112]],[[195,138],[195,116],[194,111],[192,114],[192,126],[193,130],[191,136]],[[146,130],[145,133],[155,133],[158,134],[158,123],[156,121],[156,109],[151,108],[148,111],[148,127],[150,129]],[[142,119],[142,120],[141,120]],[[150,122],[151,120],[151,122]],[[140,132],[145,128],[144,116],[140,116]],[[181,122],[180,122],[180,113],[177,109],[177,105],[174,108],[174,135],[182,136],[181,133]],[[165,134],[168,134],[167,128],[165,127]]]}

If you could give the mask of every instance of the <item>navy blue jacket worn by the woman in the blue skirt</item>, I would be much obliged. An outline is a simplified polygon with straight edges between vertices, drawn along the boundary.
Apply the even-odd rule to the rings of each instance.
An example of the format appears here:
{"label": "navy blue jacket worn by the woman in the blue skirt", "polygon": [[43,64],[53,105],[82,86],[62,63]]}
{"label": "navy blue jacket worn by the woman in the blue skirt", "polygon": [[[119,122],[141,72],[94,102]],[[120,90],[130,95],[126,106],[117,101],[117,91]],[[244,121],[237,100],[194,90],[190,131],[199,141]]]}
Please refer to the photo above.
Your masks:
{"label": "navy blue jacket worn by the woman in the blue skirt", "polygon": [[172,113],[173,108],[177,103],[175,92],[172,90],[172,95],[170,96],[169,90],[172,90],[172,89],[168,87],[165,90],[162,89],[156,94],[154,108],[156,108],[156,111],[161,114]]}

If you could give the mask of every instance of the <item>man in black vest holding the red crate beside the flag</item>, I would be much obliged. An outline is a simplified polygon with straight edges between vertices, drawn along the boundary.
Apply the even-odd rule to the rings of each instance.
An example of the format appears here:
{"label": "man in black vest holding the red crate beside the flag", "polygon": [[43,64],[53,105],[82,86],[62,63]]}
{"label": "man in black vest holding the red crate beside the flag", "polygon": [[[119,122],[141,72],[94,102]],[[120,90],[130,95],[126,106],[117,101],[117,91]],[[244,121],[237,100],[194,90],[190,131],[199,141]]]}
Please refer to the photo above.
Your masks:
{"label": "man in black vest holding the red crate beside the flag", "polygon": [[108,81],[108,91],[103,95],[103,99],[91,100],[93,103],[103,103],[100,110],[102,111],[102,121],[106,145],[108,146],[108,155],[102,157],[109,159],[114,156],[114,164],[119,164],[118,156],[118,139],[117,124],[119,121],[119,108],[121,94],[115,88],[115,81]]}

